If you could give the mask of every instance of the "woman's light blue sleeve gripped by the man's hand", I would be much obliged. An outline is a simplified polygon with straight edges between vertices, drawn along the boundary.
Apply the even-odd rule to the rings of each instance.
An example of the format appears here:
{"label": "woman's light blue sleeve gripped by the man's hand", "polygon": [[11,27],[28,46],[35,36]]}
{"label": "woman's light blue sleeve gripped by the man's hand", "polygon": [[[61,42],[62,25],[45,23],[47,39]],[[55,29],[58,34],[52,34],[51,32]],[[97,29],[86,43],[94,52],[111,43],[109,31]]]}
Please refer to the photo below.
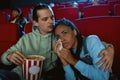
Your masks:
{"label": "woman's light blue sleeve gripped by the man's hand", "polygon": [[86,39],[87,43],[87,49],[90,54],[90,56],[93,59],[93,65],[86,64],[82,61],[78,61],[75,64],[75,68],[81,72],[82,75],[85,77],[92,79],[92,80],[108,80],[109,78],[109,72],[104,72],[103,70],[100,70],[100,65],[96,65],[96,62],[98,62],[102,57],[98,58],[98,54],[101,50],[103,50],[105,47],[103,46],[102,42],[96,35],[88,36]]}

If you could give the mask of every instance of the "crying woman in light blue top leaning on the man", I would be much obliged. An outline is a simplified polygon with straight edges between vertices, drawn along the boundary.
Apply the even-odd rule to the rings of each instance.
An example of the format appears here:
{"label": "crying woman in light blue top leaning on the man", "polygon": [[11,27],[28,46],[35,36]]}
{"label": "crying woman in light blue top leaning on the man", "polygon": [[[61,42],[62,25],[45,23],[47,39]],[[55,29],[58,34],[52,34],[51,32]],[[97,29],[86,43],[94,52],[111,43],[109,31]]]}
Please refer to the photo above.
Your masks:
{"label": "crying woman in light blue top leaning on the man", "polygon": [[82,37],[76,26],[69,20],[56,23],[54,33],[59,39],[54,51],[59,56],[66,80],[108,80],[109,71],[100,70],[96,65],[102,57],[98,54],[105,49],[96,35]]}

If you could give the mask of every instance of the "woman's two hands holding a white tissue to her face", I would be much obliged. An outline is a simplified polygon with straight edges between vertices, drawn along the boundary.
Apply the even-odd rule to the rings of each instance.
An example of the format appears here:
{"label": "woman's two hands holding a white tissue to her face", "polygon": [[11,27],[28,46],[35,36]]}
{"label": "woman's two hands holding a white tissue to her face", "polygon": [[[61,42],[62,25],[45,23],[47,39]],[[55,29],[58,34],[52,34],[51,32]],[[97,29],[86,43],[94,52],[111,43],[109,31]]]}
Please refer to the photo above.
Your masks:
{"label": "woman's two hands holding a white tissue to her face", "polygon": [[75,65],[77,60],[73,57],[70,50],[61,48],[61,42],[58,40],[54,45],[54,52],[58,55],[60,58],[62,64],[65,66],[67,64]]}

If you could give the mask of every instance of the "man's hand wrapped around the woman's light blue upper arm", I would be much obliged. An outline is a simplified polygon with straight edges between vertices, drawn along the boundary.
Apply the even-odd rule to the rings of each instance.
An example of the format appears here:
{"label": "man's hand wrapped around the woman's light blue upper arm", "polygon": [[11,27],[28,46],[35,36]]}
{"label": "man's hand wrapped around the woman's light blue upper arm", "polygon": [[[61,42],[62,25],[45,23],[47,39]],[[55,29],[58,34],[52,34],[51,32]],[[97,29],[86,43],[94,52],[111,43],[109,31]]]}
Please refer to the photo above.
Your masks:
{"label": "man's hand wrapped around the woman's light blue upper arm", "polygon": [[113,64],[114,48],[108,47],[108,48],[102,50],[100,52],[100,54],[98,55],[98,57],[101,57],[103,55],[104,55],[104,57],[99,62],[97,62],[97,65],[103,63],[102,66],[100,67],[100,69],[105,68],[105,71],[109,71]]}

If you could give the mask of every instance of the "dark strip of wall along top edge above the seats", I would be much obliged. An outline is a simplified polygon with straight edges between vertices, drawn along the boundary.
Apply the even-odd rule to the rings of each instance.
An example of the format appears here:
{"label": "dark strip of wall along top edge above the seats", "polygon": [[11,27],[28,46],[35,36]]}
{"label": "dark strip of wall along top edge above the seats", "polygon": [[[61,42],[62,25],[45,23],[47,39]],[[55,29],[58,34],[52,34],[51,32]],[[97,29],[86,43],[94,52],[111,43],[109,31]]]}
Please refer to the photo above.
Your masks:
{"label": "dark strip of wall along top edge above the seats", "polygon": [[35,5],[38,3],[50,3],[50,2],[68,2],[78,0],[0,0],[0,9],[10,8],[13,6],[27,6]]}

